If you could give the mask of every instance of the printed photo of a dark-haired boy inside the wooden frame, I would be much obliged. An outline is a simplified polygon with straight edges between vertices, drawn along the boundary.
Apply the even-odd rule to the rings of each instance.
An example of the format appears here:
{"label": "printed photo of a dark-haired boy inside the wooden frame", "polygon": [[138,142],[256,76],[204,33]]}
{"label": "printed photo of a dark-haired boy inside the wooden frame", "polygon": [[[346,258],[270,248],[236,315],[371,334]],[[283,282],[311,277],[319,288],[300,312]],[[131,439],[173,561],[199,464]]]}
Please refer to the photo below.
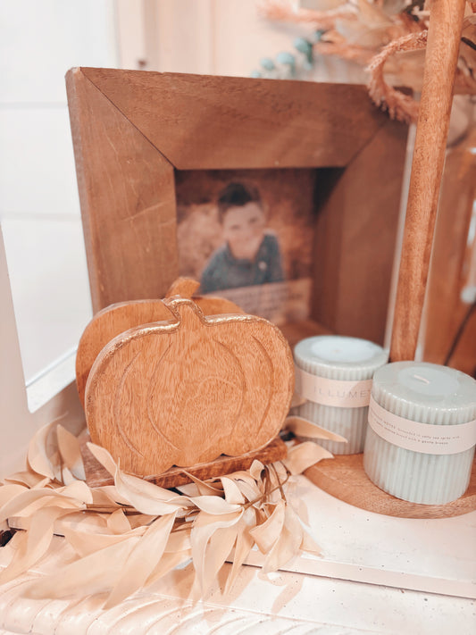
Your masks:
{"label": "printed photo of a dark-haired boy inside the wooden frame", "polygon": [[312,170],[177,171],[180,275],[283,324],[309,315]]}

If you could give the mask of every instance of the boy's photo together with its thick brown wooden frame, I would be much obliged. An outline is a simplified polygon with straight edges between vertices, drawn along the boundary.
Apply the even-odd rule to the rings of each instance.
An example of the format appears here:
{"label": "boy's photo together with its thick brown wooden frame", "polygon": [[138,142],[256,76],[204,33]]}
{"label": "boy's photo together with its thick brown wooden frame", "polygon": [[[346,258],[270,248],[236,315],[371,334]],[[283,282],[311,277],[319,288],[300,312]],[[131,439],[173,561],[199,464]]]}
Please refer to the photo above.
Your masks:
{"label": "boy's photo together with its thick brown wooden frame", "polygon": [[66,81],[95,311],[190,275],[294,338],[383,340],[407,128],[366,88],[89,68]]}

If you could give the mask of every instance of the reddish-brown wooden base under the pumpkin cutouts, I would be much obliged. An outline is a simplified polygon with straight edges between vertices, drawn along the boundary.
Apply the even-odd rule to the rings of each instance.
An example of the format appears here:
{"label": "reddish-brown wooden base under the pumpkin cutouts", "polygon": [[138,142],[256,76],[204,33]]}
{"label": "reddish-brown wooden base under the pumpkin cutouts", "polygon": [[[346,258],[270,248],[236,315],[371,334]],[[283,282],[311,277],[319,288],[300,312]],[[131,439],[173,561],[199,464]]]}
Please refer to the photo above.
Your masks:
{"label": "reddish-brown wooden base under the pumpkin cutouts", "polygon": [[[81,441],[81,455],[84,462],[84,469],[86,472],[86,481],[90,488],[99,488],[104,485],[113,485],[114,479],[107,470],[96,460],[88,449],[89,435],[83,435],[80,438]],[[213,461],[205,464],[197,464],[187,468],[188,474],[192,474],[197,479],[205,480],[212,479],[217,476],[225,476],[231,472],[238,472],[239,470],[247,470],[251,467],[251,464],[255,461],[261,461],[263,465],[268,465],[279,461],[284,458],[287,453],[286,445],[281,441],[279,437],[272,439],[271,443],[263,447],[260,450],[248,452],[245,455],[240,456],[218,456]],[[185,485],[190,483],[191,479],[188,474],[184,472],[183,468],[171,467],[162,474],[155,476],[147,476],[146,480],[150,480],[155,485],[160,485],[162,488],[170,489],[176,488],[178,485]]]}

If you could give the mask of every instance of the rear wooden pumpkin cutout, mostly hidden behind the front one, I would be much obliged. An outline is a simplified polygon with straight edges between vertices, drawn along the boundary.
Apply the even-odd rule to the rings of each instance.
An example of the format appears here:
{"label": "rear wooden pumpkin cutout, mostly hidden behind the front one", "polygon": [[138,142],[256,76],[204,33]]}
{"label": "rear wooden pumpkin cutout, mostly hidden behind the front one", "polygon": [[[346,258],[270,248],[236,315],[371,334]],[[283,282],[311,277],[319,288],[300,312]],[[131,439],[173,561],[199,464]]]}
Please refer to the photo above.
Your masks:
{"label": "rear wooden pumpkin cutout, mostly hidden behind the front one", "polygon": [[[165,297],[192,297],[199,284],[196,280],[179,278],[171,285]],[[238,305],[223,297],[196,297],[194,302],[205,315],[243,313]],[[76,385],[82,405],[89,372],[105,345],[126,330],[163,320],[173,320],[173,314],[163,300],[120,302],[96,313],[79,340],[76,355]]]}

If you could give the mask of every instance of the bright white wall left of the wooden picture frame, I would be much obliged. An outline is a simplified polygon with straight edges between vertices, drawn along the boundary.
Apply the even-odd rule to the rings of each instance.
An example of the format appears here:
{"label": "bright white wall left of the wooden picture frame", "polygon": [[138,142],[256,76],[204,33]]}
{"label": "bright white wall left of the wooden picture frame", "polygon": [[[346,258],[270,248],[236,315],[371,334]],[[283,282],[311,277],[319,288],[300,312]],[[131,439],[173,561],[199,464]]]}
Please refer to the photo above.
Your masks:
{"label": "bright white wall left of the wooden picture frame", "polygon": [[117,65],[113,0],[0,0],[0,221],[27,380],[91,313],[64,88],[77,65]]}

